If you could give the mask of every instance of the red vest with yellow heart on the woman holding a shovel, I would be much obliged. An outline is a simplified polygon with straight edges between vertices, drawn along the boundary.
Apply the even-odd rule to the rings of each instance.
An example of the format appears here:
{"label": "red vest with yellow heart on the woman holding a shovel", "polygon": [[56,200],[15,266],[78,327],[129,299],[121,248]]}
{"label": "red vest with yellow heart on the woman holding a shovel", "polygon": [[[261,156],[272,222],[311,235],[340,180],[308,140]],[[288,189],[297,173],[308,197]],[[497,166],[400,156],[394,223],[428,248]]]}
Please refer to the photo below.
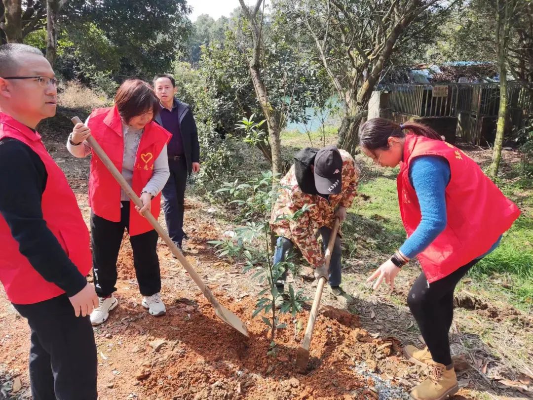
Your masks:
{"label": "red vest with yellow heart on the woman holding a shovel", "polygon": [[[122,122],[116,107],[93,110],[88,127],[91,134],[109,156],[119,171],[122,171],[124,156],[124,140]],[[152,172],[154,162],[163,150],[171,134],[165,129],[150,122],[144,127],[135,159],[132,189],[140,196]],[[91,159],[91,175],[89,177],[89,205],[93,212],[101,218],[120,222],[120,185],[107,170],[101,159],[93,154]],[[161,209],[161,194],[152,199],[151,213],[157,219]],[[130,236],[140,235],[154,229],[146,218],[142,217],[132,203],[130,206]]]}

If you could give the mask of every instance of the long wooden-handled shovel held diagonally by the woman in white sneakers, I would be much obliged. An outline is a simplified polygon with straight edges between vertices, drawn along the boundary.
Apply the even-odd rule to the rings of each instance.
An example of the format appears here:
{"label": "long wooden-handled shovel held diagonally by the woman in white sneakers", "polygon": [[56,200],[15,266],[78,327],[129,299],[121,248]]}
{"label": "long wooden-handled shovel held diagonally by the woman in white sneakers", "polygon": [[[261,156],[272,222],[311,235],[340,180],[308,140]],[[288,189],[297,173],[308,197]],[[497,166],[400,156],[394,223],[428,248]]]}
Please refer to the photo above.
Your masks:
{"label": "long wooden-handled shovel held diagonally by the woman in white sneakers", "polygon": [[[74,117],[71,119],[71,121],[74,124],[80,124],[82,121],[78,117]],[[117,170],[117,167],[115,164],[112,163],[112,161],[109,159],[105,151],[100,147],[98,142],[90,136],[87,138],[87,143],[91,145],[91,148],[102,160],[102,163],[107,167],[111,175],[117,180],[120,187],[125,191],[125,193],[130,197],[131,201],[138,207],[142,207],[143,204],[141,202],[141,199],[135,194],[133,189],[128,185],[122,174]],[[177,248],[176,244],[172,241],[170,236],[166,233],[166,231],[159,225],[159,222],[157,222],[157,219],[154,218],[154,215],[150,213],[150,211],[144,211],[142,213],[144,217],[150,222],[150,225],[154,227],[154,229],[157,231],[159,236],[165,241],[168,248],[171,249],[172,254],[176,256],[176,258],[180,261],[181,265],[185,270],[189,273],[189,275],[192,277],[192,280],[195,281],[195,283],[200,288],[201,292],[204,294],[204,296],[211,302],[211,305],[216,310],[216,315],[222,319],[225,323],[228,325],[234,327],[236,330],[238,330],[243,335],[249,337],[248,329],[246,328],[246,325],[239,319],[239,317],[235,314],[233,314],[230,310],[222,306],[214,297],[213,293],[211,293],[211,290],[204,284],[204,282],[201,280],[200,276],[196,272],[194,268],[190,265],[189,261],[183,256],[182,252]]]}

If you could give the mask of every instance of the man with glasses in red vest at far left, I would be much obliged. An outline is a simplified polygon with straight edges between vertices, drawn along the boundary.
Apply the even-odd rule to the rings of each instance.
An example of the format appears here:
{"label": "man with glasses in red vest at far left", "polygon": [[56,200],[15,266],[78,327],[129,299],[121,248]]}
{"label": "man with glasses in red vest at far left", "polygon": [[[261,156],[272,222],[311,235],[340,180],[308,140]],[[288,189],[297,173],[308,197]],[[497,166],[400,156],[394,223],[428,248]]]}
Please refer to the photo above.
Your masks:
{"label": "man with glasses in red vest at far left", "polygon": [[0,46],[0,281],[30,326],[32,398],[96,400],[89,235],[35,130],[55,115],[57,86],[41,51]]}

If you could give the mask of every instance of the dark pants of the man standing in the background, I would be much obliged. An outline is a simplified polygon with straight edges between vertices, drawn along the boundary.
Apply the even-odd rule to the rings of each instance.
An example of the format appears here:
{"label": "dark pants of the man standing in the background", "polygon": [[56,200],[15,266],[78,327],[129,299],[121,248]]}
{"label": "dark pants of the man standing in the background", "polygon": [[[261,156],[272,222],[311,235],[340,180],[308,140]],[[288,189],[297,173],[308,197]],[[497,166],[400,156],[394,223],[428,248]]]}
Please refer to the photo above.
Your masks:
{"label": "dark pants of the man standing in the background", "polygon": [[185,187],[187,186],[187,162],[185,156],[180,160],[168,160],[170,177],[161,191],[164,204],[165,221],[168,235],[174,243],[180,244],[183,241],[183,212],[185,204]]}

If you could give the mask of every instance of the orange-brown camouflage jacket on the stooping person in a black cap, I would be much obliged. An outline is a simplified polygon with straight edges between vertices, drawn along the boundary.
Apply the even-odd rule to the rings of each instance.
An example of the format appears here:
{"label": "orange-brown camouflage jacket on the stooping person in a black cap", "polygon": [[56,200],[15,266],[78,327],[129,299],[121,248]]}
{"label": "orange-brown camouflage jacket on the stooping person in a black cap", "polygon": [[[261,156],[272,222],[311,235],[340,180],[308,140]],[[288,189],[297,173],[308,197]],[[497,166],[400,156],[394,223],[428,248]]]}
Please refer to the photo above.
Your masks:
{"label": "orange-brown camouflage jacket on the stooping person in a black cap", "polygon": [[[278,198],[272,208],[272,230],[298,246],[303,257],[315,268],[325,262],[317,241],[317,230],[324,226],[333,228],[336,207],[344,206],[348,209],[357,195],[359,169],[347,151],[339,151],[343,161],[341,193],[329,195],[329,202],[322,196],[304,193],[296,181],[293,165],[280,181]],[[310,206],[310,209],[296,220],[276,221],[281,215],[293,215],[305,204]]]}

